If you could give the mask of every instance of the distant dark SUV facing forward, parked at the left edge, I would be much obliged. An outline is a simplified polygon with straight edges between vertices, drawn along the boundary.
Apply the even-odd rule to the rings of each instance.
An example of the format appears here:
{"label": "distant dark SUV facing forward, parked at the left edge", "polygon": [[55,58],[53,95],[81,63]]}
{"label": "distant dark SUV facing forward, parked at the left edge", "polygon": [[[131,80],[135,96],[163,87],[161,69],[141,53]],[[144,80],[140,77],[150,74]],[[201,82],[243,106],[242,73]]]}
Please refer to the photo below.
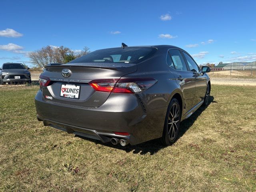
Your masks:
{"label": "distant dark SUV facing forward, parked at the left edge", "polygon": [[0,68],[0,83],[2,85],[19,82],[31,83],[31,75],[28,69],[21,63],[4,63]]}

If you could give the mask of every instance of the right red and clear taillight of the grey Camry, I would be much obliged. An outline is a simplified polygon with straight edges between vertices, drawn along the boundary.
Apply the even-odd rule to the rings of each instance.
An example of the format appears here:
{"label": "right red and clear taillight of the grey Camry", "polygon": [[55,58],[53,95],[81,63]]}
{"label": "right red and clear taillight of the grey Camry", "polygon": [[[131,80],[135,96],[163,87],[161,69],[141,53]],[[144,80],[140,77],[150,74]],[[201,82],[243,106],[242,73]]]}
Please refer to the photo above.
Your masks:
{"label": "right red and clear taillight of the grey Camry", "polygon": [[157,82],[154,78],[127,78],[92,80],[89,84],[96,91],[139,94]]}

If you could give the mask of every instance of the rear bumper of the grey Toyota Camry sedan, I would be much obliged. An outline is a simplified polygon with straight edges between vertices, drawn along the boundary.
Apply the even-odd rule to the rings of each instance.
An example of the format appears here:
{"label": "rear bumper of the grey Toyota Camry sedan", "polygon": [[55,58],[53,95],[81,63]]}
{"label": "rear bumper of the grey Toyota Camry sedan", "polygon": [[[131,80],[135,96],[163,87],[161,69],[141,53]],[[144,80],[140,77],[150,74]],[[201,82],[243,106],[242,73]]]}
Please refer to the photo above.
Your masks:
{"label": "rear bumper of the grey Toyota Camry sedan", "polygon": [[[68,133],[109,142],[124,138],[135,145],[162,136],[165,112],[163,108],[146,111],[134,94],[110,94],[98,107],[83,107],[51,102],[39,90],[35,98],[39,120]],[[128,132],[130,136],[113,132]]]}

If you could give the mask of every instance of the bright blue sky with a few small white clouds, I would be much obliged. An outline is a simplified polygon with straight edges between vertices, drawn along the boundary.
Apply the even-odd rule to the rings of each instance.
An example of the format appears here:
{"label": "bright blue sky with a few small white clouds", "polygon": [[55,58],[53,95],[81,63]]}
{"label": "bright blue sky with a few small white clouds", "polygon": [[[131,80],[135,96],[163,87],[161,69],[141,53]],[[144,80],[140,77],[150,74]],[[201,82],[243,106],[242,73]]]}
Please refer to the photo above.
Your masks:
{"label": "bright blue sky with a few small white clouds", "polygon": [[256,1],[1,0],[0,65],[43,46],[170,44],[198,64],[256,60]]}

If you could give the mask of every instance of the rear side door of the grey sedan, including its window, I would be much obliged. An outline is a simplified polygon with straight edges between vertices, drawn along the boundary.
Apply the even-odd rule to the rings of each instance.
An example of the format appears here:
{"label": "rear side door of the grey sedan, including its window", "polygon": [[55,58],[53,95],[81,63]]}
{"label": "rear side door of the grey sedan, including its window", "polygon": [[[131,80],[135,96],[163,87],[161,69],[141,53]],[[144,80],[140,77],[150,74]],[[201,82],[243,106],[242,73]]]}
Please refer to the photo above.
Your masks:
{"label": "rear side door of the grey sedan, including its window", "polygon": [[[169,58],[168,58],[169,56]],[[193,74],[188,70],[186,62],[178,49],[170,49],[168,51],[167,62],[172,70],[176,82],[180,85],[184,99],[184,114],[190,110],[194,104],[195,96],[195,78]]]}

